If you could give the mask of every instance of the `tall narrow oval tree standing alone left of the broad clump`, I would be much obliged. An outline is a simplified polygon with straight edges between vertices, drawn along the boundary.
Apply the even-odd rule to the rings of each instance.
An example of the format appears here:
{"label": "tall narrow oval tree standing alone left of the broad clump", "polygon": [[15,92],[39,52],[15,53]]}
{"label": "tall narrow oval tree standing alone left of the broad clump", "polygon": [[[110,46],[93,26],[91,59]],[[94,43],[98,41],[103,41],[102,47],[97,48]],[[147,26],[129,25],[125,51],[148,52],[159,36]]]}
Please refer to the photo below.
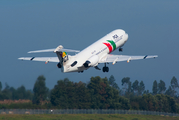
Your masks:
{"label": "tall narrow oval tree standing alone left of the broad clump", "polygon": [[34,104],[40,104],[41,101],[46,100],[48,88],[45,85],[45,77],[43,75],[37,78],[34,84],[33,92],[34,92],[34,96],[33,96]]}

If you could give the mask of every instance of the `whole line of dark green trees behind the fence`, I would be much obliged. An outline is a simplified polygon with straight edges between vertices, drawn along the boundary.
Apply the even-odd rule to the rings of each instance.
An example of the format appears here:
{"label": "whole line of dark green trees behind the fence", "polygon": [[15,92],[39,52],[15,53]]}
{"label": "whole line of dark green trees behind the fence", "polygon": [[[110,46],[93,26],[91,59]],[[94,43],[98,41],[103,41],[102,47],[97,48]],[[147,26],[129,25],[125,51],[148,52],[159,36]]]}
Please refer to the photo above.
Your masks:
{"label": "whole line of dark green trees behind the fence", "polygon": [[[143,81],[131,82],[129,77],[125,77],[121,83],[122,88],[119,88],[113,75],[109,79],[91,77],[88,83],[65,78],[58,80],[54,88],[49,90],[45,77],[41,75],[33,90],[26,90],[24,86],[15,89],[7,84],[2,90],[0,82],[0,100],[29,99],[32,103],[20,105],[20,108],[27,109],[125,109],[179,113],[179,85],[175,77],[171,79],[168,89],[164,81],[157,83],[155,80],[152,92],[145,90]],[[0,108],[18,108],[14,106],[0,105]]]}

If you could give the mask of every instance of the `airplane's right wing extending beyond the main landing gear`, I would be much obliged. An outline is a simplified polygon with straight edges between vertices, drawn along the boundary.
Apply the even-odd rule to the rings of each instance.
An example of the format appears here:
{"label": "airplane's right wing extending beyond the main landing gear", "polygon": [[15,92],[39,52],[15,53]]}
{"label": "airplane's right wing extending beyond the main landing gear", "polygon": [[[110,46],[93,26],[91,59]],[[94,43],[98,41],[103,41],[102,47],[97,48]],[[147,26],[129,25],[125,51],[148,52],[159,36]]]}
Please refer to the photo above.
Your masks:
{"label": "airplane's right wing extending beyond the main landing gear", "polygon": [[115,64],[116,62],[122,62],[122,61],[130,62],[131,60],[140,60],[140,59],[148,59],[148,58],[156,58],[156,57],[158,56],[157,55],[128,56],[128,55],[108,54],[107,56],[103,57],[99,63],[113,62],[113,64]]}

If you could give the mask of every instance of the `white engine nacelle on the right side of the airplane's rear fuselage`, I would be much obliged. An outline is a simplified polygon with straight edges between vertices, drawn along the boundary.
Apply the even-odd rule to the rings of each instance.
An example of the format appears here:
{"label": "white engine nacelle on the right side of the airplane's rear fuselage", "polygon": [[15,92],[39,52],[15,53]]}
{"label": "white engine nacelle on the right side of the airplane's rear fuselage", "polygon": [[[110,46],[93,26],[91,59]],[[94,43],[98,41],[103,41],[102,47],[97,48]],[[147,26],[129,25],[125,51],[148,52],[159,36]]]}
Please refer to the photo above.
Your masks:
{"label": "white engine nacelle on the right side of the airplane's rear fuselage", "polygon": [[85,68],[87,67],[94,67],[98,64],[98,56],[97,55],[94,55],[92,57],[90,57],[83,65]]}

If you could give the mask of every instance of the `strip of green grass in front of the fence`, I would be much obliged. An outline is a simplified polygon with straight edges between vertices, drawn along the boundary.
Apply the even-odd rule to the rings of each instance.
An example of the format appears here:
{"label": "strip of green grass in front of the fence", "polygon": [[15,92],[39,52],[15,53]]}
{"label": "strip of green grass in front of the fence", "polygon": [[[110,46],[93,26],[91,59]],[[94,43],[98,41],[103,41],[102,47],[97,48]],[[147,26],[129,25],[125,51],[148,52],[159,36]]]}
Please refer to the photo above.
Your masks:
{"label": "strip of green grass in front of the fence", "polygon": [[179,120],[179,117],[128,114],[0,115],[0,120]]}

